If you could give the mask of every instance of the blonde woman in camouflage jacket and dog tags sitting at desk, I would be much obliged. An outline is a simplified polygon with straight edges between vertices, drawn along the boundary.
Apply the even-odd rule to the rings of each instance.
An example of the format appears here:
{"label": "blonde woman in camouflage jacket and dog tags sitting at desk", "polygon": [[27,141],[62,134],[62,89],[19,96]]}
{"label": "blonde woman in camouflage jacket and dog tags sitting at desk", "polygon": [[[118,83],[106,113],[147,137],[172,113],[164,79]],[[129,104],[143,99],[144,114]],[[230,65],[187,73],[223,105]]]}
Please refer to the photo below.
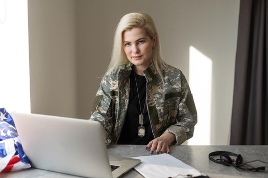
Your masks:
{"label": "blonde woman in camouflage jacket and dog tags sitting at desk", "polygon": [[93,104],[107,144],[147,144],[151,154],[169,153],[193,135],[196,107],[179,69],[161,57],[153,19],[130,13],[117,25],[112,57]]}

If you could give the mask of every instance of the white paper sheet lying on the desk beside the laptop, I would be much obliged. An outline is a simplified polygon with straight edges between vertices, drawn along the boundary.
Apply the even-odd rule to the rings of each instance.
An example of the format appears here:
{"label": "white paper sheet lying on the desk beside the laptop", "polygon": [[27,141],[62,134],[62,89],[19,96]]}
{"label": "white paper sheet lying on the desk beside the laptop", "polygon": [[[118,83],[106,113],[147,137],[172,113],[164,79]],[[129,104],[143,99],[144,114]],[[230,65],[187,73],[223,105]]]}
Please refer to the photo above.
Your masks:
{"label": "white paper sheet lying on the desk beside the laptop", "polygon": [[145,178],[167,178],[175,177],[179,174],[181,176],[177,176],[177,178],[187,177],[187,174],[191,174],[193,176],[202,175],[199,170],[194,169],[169,154],[140,156],[134,158],[141,160],[141,163],[134,167],[134,169],[136,169]]}

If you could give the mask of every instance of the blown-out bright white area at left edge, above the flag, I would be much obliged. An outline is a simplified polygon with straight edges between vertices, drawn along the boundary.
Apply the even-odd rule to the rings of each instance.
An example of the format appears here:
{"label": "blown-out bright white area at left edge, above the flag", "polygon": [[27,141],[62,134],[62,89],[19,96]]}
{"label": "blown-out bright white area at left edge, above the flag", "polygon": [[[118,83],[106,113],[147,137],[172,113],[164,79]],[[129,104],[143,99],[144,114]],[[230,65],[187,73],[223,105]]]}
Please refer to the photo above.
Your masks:
{"label": "blown-out bright white area at left edge, above the flag", "polygon": [[27,0],[0,0],[0,107],[30,112]]}

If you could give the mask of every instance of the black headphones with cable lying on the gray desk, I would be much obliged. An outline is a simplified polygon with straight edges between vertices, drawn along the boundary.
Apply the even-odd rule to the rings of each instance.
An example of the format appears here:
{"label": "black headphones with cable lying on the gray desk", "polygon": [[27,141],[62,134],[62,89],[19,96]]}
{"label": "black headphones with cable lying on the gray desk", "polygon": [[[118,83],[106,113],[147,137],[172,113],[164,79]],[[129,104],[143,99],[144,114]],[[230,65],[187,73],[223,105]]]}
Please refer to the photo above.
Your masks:
{"label": "black headphones with cable lying on the gray desk", "polygon": [[[220,156],[220,158],[214,159],[213,157],[215,157],[215,156]],[[236,157],[236,159],[235,160],[232,159],[231,156]],[[264,161],[260,161],[260,160],[254,160],[254,161],[249,161],[249,162],[243,163],[243,158],[240,154],[235,154],[232,152],[225,152],[225,151],[212,152],[208,155],[208,159],[215,162],[215,163],[223,164],[225,166],[234,166],[239,171],[247,170],[247,171],[254,171],[254,172],[258,172],[258,171],[264,172],[265,166],[252,167],[247,163],[259,161],[259,162],[268,164],[268,163],[266,163]]]}

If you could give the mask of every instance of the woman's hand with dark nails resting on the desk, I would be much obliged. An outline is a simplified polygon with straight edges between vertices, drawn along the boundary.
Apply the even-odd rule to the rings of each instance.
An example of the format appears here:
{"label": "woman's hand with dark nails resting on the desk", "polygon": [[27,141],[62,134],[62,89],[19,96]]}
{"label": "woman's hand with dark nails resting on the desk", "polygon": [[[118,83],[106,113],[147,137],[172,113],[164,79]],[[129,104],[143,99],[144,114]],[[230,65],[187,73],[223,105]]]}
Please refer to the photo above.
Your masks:
{"label": "woman's hand with dark nails resting on the desk", "polygon": [[146,149],[151,151],[151,154],[170,154],[169,145],[175,141],[176,137],[173,133],[164,133],[147,144]]}

